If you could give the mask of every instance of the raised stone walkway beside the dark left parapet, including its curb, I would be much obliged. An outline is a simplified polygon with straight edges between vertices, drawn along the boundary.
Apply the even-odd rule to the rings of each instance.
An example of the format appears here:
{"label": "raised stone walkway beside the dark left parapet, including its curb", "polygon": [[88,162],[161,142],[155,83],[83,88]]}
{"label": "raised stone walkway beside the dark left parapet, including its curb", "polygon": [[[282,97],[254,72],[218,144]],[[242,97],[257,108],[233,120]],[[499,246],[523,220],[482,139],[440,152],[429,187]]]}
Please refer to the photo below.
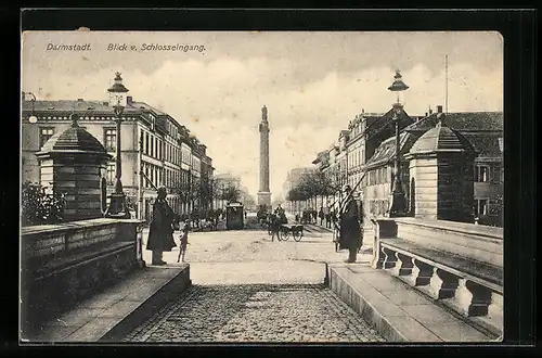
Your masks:
{"label": "raised stone walkway beside the dark left parapet, including its curb", "polygon": [[186,264],[137,269],[124,281],[79,303],[39,332],[22,340],[29,343],[120,342],[169,299],[191,285]]}

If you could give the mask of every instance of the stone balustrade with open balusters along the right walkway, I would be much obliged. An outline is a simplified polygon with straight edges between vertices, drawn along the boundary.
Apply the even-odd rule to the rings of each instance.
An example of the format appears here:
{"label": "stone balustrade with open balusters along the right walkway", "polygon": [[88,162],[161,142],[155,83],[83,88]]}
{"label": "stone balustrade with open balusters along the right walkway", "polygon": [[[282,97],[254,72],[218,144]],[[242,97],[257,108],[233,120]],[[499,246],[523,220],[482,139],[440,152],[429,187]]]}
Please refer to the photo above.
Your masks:
{"label": "stone balustrade with open balusters along the right walkway", "polygon": [[502,228],[416,218],[374,223],[374,268],[502,334]]}

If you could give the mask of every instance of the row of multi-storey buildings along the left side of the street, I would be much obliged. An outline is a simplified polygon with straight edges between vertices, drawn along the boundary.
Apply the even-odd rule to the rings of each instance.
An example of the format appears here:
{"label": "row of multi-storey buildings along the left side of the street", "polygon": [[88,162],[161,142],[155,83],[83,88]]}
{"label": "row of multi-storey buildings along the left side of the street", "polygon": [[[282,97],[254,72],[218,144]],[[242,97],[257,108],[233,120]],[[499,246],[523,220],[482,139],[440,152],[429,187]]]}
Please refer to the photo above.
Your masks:
{"label": "row of multi-storey buildings along the left side of the street", "polygon": [[[122,84],[120,74],[116,85]],[[115,85],[115,86],[116,86]],[[117,133],[113,106],[125,106],[120,133]],[[202,167],[193,170],[197,161],[207,165],[206,177],[212,176],[212,161],[205,153],[205,145],[190,136],[190,130],[173,117],[144,102],[134,101],[131,95],[111,97],[108,101],[83,99],[60,101],[23,101],[22,108],[22,177],[23,180],[39,182],[40,167],[36,152],[53,136],[62,133],[70,126],[69,115],[79,115],[79,125],[93,135],[107,152],[116,155],[116,138],[121,136],[121,181],[127,203],[138,217],[150,219],[152,203],[156,197],[154,187],[165,186],[168,202],[178,213],[189,213],[181,205],[178,195],[180,183],[188,182],[191,175],[202,176]],[[37,123],[28,118],[34,115]],[[192,158],[192,149],[197,159]],[[188,151],[188,155],[186,155]],[[142,167],[145,176],[139,175]],[[116,175],[115,162],[111,162],[104,172],[108,191],[113,192]]]}

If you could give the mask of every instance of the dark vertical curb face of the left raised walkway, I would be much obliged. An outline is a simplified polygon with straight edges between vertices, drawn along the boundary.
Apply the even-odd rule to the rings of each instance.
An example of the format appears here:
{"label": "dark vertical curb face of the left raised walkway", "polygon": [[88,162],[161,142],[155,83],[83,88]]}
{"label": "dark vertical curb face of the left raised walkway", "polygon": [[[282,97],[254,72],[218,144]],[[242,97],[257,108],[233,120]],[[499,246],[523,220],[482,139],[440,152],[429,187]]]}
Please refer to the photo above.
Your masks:
{"label": "dark vertical curb face of the left raised walkway", "polygon": [[190,279],[190,265],[172,277],[158,291],[153,293],[141,305],[136,307],[115,327],[107,331],[98,342],[121,342],[121,340],[139,325],[151,319],[157,311],[169,302],[177,298],[192,285]]}

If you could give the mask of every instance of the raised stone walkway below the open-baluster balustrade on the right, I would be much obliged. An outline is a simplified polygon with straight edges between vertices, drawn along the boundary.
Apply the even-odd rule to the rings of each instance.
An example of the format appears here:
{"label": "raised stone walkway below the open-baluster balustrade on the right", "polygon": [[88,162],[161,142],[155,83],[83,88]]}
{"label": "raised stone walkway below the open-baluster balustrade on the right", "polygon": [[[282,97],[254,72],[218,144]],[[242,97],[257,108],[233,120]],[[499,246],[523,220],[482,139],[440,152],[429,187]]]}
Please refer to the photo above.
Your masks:
{"label": "raised stone walkway below the open-baluster balustrade on the right", "polygon": [[326,281],[388,342],[490,342],[457,314],[369,264],[328,264]]}

